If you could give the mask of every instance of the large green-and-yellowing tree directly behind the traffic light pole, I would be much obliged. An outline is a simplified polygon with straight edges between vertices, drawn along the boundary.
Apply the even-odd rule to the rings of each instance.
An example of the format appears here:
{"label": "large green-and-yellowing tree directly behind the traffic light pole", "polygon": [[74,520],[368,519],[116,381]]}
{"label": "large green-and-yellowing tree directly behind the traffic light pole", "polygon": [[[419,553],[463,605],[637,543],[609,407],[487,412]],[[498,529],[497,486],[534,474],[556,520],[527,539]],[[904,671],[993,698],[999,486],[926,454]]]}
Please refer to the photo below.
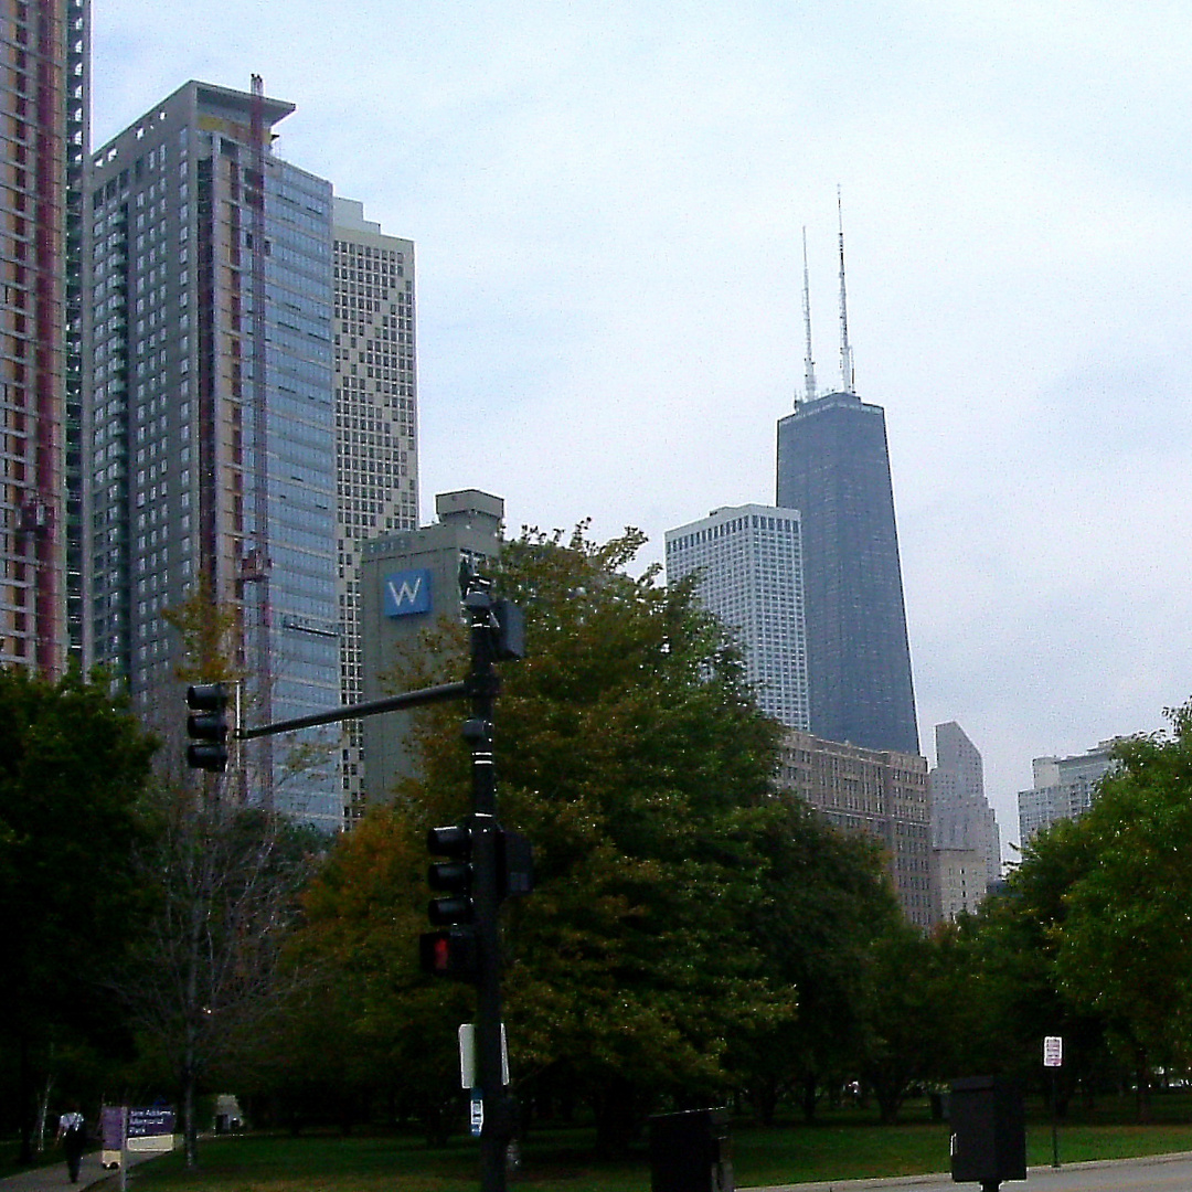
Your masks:
{"label": "large green-and-yellowing tree directly behind the traffic light pole", "polygon": [[[774,898],[769,842],[789,815],[771,794],[778,728],[691,583],[626,573],[641,544],[634,530],[604,545],[583,527],[526,532],[496,576],[529,644],[503,670],[496,730],[501,819],[535,852],[534,894],[507,909],[511,1058],[526,1097],[586,1098],[604,1150],[623,1147],[659,1098],[722,1095],[734,1044],[790,1019],[796,1002],[751,926]],[[442,629],[395,689],[459,677],[461,646]],[[468,811],[459,730],[459,709],[417,716],[421,774],[396,793],[402,848]],[[365,859],[343,842],[335,864]],[[367,926],[354,884],[335,880],[327,950],[343,952]],[[418,873],[391,904],[418,907],[420,924],[424,900]],[[412,931],[405,946],[412,956]]]}

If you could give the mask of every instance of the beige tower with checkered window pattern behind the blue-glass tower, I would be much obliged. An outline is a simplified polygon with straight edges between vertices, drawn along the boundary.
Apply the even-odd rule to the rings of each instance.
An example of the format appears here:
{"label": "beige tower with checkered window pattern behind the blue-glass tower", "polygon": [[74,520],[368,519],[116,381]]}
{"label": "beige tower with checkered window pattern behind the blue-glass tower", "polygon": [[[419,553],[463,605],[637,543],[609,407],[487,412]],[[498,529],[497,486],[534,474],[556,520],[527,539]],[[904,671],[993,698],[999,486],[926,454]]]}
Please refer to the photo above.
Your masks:
{"label": "beige tower with checkered window pattern behind the blue-glass tower", "polygon": [[[418,523],[414,244],[386,236],[364,204],[335,200],[336,595],[340,691],[364,699],[360,546]],[[365,721],[343,725],[344,820],[364,809]]]}

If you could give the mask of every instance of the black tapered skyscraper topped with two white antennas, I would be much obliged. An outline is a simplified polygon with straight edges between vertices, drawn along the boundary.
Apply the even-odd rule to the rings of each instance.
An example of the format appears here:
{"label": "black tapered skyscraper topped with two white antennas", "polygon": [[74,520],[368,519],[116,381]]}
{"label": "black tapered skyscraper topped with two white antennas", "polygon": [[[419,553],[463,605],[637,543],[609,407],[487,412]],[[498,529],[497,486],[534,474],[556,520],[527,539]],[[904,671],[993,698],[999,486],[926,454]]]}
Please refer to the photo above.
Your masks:
{"label": "black tapered skyscraper topped with two white antennas", "polygon": [[799,405],[778,422],[777,489],[802,514],[811,731],[918,753],[882,408],[855,393]]}

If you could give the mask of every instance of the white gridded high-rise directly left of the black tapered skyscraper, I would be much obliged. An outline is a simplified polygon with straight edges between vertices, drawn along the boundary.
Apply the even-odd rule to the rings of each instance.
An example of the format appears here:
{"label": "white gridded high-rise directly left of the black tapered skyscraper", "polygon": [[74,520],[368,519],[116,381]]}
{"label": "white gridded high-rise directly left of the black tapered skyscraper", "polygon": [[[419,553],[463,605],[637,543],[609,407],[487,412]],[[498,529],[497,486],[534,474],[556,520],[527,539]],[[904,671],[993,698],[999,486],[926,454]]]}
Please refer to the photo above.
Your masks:
{"label": "white gridded high-rise directly left of the black tapered skyscraper", "polygon": [[803,625],[799,510],[769,505],[716,509],[666,532],[666,578],[700,573],[699,597],[737,635],[763,712],[807,731],[807,635]]}

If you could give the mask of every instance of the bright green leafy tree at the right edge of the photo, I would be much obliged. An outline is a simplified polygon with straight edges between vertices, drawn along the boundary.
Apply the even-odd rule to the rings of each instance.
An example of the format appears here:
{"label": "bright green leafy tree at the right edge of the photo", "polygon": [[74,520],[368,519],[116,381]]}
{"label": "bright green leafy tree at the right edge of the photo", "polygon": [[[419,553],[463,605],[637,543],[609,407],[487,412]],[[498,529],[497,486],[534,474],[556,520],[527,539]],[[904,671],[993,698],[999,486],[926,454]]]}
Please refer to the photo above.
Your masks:
{"label": "bright green leafy tree at the right edge of the photo", "polygon": [[1094,863],[1056,930],[1061,988],[1105,1019],[1142,1113],[1155,1064],[1192,1060],[1192,703],[1167,715],[1169,733],[1115,746],[1076,827]]}

